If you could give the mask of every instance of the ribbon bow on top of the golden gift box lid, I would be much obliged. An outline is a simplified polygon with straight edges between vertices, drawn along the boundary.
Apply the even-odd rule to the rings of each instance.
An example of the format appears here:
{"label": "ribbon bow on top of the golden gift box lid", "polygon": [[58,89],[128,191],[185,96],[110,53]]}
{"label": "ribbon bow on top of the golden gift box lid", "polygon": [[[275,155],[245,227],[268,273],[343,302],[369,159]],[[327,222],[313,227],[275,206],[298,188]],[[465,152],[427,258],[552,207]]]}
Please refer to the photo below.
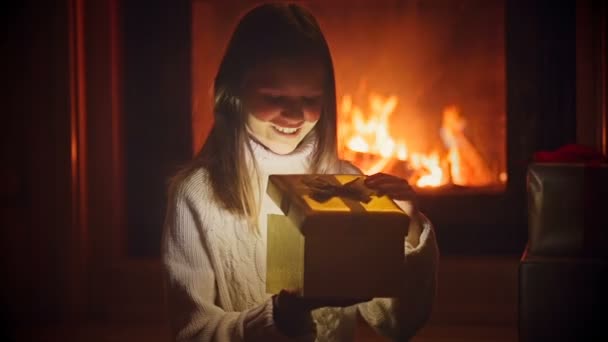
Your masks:
{"label": "ribbon bow on top of the golden gift box lid", "polygon": [[352,199],[363,203],[372,200],[374,191],[365,186],[363,177],[341,184],[334,177],[304,178],[302,182],[310,189],[310,197],[317,202],[326,202],[332,197]]}

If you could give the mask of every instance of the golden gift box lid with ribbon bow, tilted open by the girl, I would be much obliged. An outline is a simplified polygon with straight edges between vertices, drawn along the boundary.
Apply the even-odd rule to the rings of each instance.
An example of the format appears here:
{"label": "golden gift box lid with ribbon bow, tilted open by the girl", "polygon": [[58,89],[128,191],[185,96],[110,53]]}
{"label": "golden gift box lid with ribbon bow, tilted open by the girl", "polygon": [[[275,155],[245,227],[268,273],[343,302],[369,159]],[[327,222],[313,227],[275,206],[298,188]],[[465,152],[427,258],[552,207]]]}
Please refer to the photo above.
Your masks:
{"label": "golden gift box lid with ribbon bow, tilted open by the girl", "polygon": [[409,216],[388,196],[377,196],[367,188],[364,179],[363,175],[270,175],[267,193],[303,235],[319,220],[370,216],[389,219],[407,234]]}

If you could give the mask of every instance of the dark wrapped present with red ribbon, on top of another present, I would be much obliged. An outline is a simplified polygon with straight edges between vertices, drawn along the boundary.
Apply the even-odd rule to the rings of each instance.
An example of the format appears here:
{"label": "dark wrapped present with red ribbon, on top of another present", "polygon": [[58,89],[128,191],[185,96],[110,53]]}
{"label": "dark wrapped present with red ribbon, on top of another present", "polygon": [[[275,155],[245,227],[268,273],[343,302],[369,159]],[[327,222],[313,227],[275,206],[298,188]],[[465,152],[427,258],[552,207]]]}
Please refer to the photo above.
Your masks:
{"label": "dark wrapped present with red ribbon, on top of another present", "polygon": [[608,256],[608,164],[528,167],[528,247],[537,256]]}

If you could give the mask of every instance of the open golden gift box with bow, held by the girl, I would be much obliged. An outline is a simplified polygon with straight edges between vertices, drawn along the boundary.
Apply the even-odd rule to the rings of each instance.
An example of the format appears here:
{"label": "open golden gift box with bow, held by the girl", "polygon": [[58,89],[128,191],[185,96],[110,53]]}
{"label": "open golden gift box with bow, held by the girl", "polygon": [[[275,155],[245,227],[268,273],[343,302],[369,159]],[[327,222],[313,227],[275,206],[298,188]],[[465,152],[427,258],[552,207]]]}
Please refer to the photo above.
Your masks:
{"label": "open golden gift box with bow, held by the girl", "polygon": [[409,217],[355,175],[271,175],[266,290],[305,297],[399,293]]}

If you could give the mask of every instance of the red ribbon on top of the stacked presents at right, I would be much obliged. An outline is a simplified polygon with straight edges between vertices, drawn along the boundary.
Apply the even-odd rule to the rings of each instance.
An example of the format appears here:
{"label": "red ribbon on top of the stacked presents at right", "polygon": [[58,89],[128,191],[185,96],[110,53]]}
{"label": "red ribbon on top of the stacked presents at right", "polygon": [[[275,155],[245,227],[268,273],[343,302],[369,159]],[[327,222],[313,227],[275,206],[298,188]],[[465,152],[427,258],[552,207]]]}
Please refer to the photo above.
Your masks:
{"label": "red ribbon on top of the stacked presents at right", "polygon": [[588,165],[602,164],[608,159],[593,147],[568,144],[555,151],[539,151],[534,153],[536,163],[583,163]]}

